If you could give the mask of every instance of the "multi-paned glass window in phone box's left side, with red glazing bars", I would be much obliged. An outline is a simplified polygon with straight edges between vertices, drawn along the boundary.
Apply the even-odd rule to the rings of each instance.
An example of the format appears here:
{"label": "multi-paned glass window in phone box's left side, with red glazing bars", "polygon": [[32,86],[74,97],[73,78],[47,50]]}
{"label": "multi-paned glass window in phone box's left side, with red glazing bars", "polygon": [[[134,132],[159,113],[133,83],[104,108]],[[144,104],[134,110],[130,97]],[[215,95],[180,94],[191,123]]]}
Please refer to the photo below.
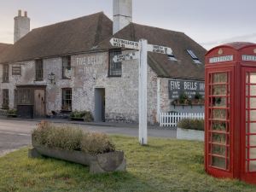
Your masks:
{"label": "multi-paned glass window in phone box's left side, with red glazing bars", "polygon": [[230,170],[230,73],[211,73],[209,91],[208,161]]}

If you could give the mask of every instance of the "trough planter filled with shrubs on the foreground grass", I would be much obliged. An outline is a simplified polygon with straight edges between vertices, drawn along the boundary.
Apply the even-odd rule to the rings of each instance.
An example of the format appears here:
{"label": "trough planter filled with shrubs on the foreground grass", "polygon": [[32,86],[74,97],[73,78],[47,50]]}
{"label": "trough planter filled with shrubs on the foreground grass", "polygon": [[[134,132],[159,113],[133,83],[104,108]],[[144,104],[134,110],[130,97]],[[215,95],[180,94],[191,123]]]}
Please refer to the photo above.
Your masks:
{"label": "trough planter filled with shrubs on the foreground grass", "polygon": [[67,126],[56,127],[42,121],[32,131],[29,157],[42,155],[90,166],[90,173],[125,171],[123,151],[116,151],[113,142],[103,133],[84,132]]}

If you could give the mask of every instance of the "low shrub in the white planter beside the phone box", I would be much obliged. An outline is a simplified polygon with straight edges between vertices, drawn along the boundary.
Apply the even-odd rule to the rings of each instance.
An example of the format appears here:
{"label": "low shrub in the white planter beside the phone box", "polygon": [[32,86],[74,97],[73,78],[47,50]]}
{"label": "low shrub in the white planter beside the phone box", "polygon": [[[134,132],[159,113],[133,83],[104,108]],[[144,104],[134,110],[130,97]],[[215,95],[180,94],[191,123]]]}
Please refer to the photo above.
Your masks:
{"label": "low shrub in the white planter beside the phone box", "polygon": [[204,119],[181,119],[177,126],[189,130],[205,130]]}

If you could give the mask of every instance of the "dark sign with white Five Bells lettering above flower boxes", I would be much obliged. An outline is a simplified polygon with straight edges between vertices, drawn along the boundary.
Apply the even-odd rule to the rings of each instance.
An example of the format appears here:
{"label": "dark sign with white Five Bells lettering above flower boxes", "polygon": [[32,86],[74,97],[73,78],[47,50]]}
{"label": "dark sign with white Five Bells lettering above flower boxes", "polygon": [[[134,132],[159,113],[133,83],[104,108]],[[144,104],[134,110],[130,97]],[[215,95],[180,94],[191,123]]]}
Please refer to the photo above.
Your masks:
{"label": "dark sign with white Five Bells lettering above flower boxes", "polygon": [[194,98],[195,93],[205,96],[205,83],[202,81],[188,80],[169,80],[169,98],[177,99],[178,96],[185,93],[189,98]]}

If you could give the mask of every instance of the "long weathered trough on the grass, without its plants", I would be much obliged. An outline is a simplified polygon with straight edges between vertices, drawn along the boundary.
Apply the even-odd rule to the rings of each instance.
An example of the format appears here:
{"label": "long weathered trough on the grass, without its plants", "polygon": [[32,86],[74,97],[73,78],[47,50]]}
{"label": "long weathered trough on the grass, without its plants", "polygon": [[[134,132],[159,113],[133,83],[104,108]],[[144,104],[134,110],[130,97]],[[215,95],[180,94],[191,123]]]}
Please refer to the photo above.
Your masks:
{"label": "long weathered trough on the grass, without its plants", "polygon": [[90,173],[92,174],[126,170],[125,154],[122,151],[91,155],[81,151],[46,148],[42,145],[35,144],[33,141],[32,146],[33,148],[28,152],[28,156],[31,158],[38,158],[44,155],[59,160],[79,163],[84,166],[90,166]]}

